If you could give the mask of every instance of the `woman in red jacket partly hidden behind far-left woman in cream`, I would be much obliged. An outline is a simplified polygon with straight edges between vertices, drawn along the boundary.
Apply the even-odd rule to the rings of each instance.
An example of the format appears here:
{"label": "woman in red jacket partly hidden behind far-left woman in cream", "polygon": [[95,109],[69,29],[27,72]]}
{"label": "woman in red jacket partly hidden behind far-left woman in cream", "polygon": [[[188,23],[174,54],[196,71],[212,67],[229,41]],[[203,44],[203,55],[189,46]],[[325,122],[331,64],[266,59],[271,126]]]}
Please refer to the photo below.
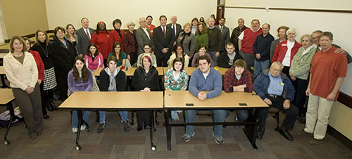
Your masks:
{"label": "woman in red jacket partly hidden behind far-left woman in cream", "polygon": [[44,70],[45,70],[44,63],[42,61],[42,58],[40,58],[40,55],[37,51],[30,50],[30,39],[28,39],[28,37],[23,37],[23,39],[25,40],[25,46],[26,46],[27,51],[32,54],[32,56],[34,57],[35,63],[37,63],[38,84],[39,84],[39,88],[41,91],[41,98],[42,98],[42,113],[43,113],[44,119],[48,119],[49,115],[47,114],[46,109],[48,109],[49,111],[52,111],[52,110],[54,110],[54,108],[52,108],[51,105],[46,104],[45,98],[44,98],[44,89],[43,89]]}

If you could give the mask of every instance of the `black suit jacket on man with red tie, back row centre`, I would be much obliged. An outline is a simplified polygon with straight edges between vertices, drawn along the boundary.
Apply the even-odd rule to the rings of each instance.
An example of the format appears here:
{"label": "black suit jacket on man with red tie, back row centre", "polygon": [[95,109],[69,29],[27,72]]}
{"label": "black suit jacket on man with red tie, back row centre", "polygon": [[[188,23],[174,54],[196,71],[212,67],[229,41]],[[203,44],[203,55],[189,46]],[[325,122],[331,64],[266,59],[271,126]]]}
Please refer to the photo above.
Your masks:
{"label": "black suit jacket on man with red tie, back row centre", "polygon": [[161,26],[156,27],[153,30],[153,39],[155,44],[154,53],[162,53],[161,50],[168,48],[168,53],[172,52],[173,42],[175,42],[175,33],[170,27],[166,27],[166,37],[164,37],[163,29]]}

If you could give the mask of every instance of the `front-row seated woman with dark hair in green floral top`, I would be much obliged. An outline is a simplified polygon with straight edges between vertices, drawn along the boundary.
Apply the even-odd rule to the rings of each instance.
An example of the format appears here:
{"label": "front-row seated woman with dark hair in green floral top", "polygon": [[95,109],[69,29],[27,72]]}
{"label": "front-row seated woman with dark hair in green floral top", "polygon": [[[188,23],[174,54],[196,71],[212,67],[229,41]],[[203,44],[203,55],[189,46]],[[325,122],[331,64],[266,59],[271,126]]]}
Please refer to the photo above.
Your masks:
{"label": "front-row seated woman with dark hair in green floral top", "polygon": [[[165,72],[164,76],[164,87],[165,91],[184,91],[187,89],[188,85],[188,75],[184,68],[184,58],[177,57],[172,61],[172,68],[169,68]],[[171,118],[172,120],[179,120],[177,113],[181,113],[181,110],[172,110]]]}

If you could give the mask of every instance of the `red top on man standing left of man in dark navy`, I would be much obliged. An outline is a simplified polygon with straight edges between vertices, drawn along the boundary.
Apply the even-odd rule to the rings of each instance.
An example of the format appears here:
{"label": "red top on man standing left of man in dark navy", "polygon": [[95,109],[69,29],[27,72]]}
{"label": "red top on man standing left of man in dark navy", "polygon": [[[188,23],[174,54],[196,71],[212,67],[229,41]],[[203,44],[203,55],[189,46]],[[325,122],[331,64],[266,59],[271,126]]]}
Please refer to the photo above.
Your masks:
{"label": "red top on man standing left of man in dark navy", "polygon": [[253,44],[259,34],[263,33],[262,28],[259,28],[257,32],[253,32],[251,28],[247,28],[244,32],[244,37],[241,43],[241,51],[245,53],[254,53]]}

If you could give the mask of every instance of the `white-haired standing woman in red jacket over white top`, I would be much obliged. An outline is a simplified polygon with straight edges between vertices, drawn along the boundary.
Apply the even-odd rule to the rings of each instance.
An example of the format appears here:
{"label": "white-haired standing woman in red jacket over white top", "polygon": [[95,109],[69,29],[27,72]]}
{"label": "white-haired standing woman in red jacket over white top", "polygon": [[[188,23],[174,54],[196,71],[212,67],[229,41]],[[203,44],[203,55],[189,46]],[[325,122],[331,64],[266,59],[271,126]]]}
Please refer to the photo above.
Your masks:
{"label": "white-haired standing woman in red jacket over white top", "polygon": [[[296,55],[298,49],[302,44],[298,43],[294,38],[296,38],[297,31],[294,28],[287,30],[287,40],[277,44],[274,56],[272,56],[272,63],[279,61],[284,65],[282,70],[289,77],[289,68],[291,66],[291,61]],[[289,77],[291,79],[291,77]]]}

